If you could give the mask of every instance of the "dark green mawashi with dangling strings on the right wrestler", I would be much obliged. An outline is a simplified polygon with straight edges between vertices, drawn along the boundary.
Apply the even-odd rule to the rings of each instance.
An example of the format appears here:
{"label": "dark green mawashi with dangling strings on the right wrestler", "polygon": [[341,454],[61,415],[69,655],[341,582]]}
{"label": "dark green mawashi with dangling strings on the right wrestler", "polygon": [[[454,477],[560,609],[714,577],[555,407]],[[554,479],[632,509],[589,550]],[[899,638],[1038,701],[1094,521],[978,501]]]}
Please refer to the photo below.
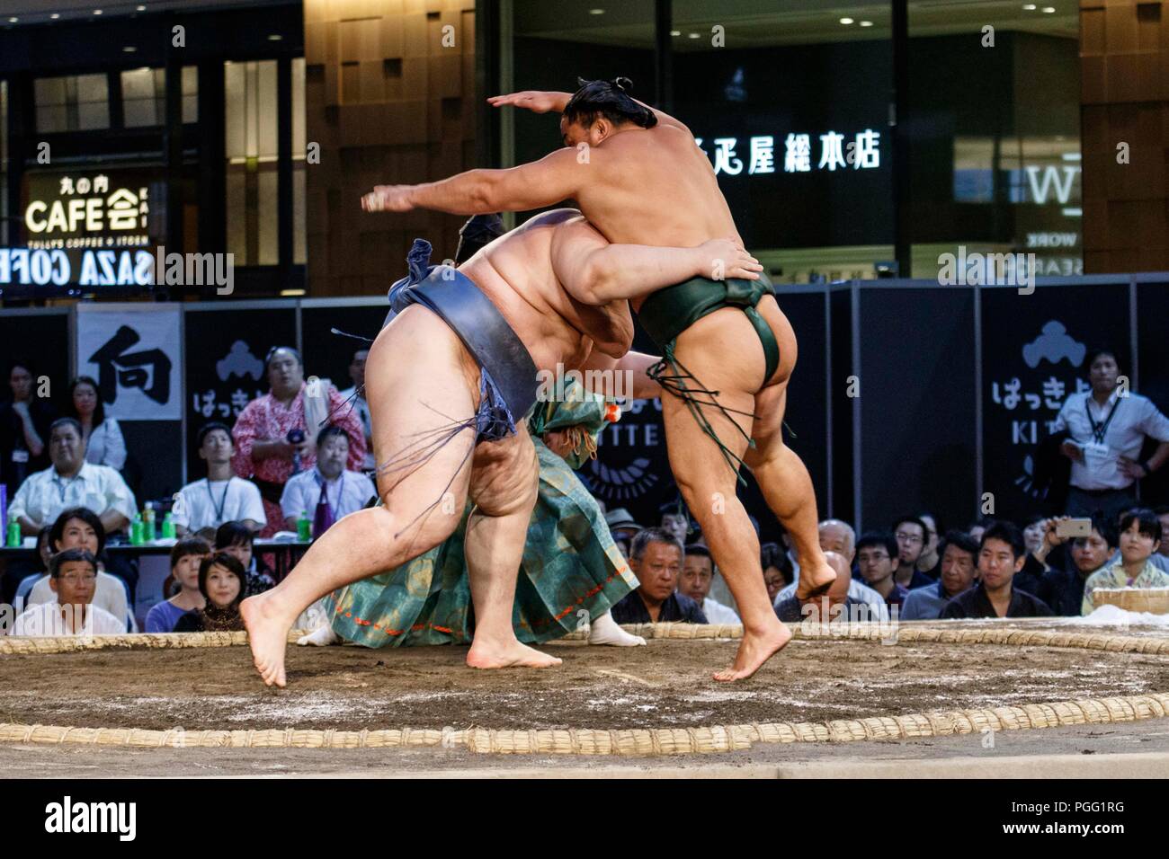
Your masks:
{"label": "dark green mawashi with dangling strings on the right wrestler", "polygon": [[[747,314],[752,327],[759,335],[759,341],[763,346],[763,358],[766,359],[766,382],[780,366],[780,344],[772,332],[767,320],[760,316],[756,305],[766,295],[775,295],[775,288],[767,279],[766,275],[759,280],[710,280],[704,277],[691,278],[673,286],[658,290],[642,304],[637,311],[637,319],[641,321],[645,333],[650,335],[658,348],[662,349],[662,360],[649,368],[648,375],[653,379],[663,389],[678,396],[686,403],[690,414],[693,415],[703,431],[706,432],[714,443],[718,444],[722,458],[727,460],[731,470],[735,472],[739,483],[746,485],[739,466],[742,459],[729,450],[713,425],[703,411],[703,406],[710,406],[720,410],[731,418],[732,414],[755,417],[753,413],[728,409],[718,401],[717,390],[704,388],[701,382],[686,367],[675,358],[675,346],[678,335],[697,323],[703,317],[713,313],[722,307],[740,307]],[[669,372],[667,372],[669,370]],[[687,383],[689,382],[689,383]],[[692,387],[693,386],[693,387]],[[700,399],[708,397],[708,399]],[[735,429],[747,439],[749,446],[754,448],[755,442],[734,418],[731,418]]]}

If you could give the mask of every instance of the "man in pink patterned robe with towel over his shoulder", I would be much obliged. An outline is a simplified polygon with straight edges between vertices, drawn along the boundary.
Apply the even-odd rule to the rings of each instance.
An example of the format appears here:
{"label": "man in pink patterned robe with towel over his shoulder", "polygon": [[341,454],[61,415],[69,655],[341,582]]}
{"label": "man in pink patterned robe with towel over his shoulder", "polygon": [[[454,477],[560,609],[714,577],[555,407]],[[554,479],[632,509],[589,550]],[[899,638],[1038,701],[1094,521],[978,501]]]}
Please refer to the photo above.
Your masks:
{"label": "man in pink patterned robe with towel over his shoulder", "polygon": [[[365,435],[340,393],[324,380],[310,389],[304,381],[300,353],[290,346],[269,351],[264,360],[271,390],[248,403],[235,422],[235,455],[231,466],[240,477],[250,477],[264,499],[268,525],[262,536],[271,536],[284,525],[281,496],[297,471],[311,469],[317,456],[317,434],[332,423],[350,437],[350,470],[365,464]],[[320,390],[318,390],[320,388]],[[318,394],[313,396],[313,394]],[[304,438],[289,441],[299,431]]]}

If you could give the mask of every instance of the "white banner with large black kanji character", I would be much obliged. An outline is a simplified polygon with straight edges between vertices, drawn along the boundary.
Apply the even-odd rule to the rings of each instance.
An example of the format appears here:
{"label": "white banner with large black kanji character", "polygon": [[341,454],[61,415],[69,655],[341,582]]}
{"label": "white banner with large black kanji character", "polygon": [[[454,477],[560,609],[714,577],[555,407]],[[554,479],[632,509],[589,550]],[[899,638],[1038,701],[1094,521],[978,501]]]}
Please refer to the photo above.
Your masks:
{"label": "white banner with large black kanji character", "polygon": [[97,380],[108,417],[180,420],[181,318],[178,304],[77,305],[77,374]]}

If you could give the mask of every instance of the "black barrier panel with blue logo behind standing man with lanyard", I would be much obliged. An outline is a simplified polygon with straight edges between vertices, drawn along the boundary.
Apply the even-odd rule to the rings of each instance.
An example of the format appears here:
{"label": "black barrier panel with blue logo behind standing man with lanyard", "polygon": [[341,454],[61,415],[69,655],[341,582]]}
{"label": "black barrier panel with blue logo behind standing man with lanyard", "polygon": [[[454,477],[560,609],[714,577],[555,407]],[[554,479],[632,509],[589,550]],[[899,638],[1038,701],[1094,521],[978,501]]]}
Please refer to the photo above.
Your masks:
{"label": "black barrier panel with blue logo behind standing man with lanyard", "polygon": [[983,493],[992,497],[997,518],[1059,512],[1033,485],[1035,446],[1067,395],[1087,389],[1090,349],[1107,345],[1127,368],[1128,284],[980,292]]}

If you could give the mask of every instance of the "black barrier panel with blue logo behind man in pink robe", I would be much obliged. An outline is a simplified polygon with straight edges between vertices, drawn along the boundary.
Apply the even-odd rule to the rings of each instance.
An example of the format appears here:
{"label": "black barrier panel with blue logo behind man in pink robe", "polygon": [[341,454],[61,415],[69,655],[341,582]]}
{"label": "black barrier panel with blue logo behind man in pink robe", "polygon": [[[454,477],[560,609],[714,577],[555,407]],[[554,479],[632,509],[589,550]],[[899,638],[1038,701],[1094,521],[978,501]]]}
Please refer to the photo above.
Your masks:
{"label": "black barrier panel with blue logo behind man in pink robe", "polygon": [[199,428],[210,421],[234,425],[244,406],[268,393],[264,356],[272,346],[296,345],[296,307],[191,310],[184,328],[189,482],[207,474]]}

